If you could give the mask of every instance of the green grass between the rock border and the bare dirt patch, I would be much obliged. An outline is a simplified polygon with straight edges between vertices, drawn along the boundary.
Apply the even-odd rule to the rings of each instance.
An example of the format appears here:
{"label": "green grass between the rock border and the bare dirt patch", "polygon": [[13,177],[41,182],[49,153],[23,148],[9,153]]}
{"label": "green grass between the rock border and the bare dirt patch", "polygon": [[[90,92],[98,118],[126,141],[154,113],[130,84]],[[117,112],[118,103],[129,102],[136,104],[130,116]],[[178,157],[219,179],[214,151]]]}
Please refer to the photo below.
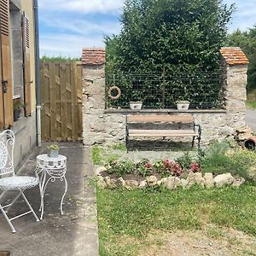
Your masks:
{"label": "green grass between the rock border and the bare dirt patch", "polygon": [[255,200],[256,188],[249,183],[240,188],[174,191],[97,189],[100,253],[138,255],[148,246],[149,232],[205,230],[210,225],[256,236]]}

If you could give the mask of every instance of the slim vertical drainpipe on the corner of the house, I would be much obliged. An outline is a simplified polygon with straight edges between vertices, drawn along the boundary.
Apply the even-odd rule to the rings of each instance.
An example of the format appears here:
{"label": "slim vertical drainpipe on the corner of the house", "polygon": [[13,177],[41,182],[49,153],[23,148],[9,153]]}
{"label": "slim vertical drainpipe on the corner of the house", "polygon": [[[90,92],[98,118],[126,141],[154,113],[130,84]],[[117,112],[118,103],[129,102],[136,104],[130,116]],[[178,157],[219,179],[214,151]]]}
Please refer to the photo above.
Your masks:
{"label": "slim vertical drainpipe on the corner of the house", "polygon": [[41,85],[38,29],[38,0],[33,0],[34,31],[35,31],[35,69],[36,69],[36,104],[37,104],[37,145],[41,147]]}

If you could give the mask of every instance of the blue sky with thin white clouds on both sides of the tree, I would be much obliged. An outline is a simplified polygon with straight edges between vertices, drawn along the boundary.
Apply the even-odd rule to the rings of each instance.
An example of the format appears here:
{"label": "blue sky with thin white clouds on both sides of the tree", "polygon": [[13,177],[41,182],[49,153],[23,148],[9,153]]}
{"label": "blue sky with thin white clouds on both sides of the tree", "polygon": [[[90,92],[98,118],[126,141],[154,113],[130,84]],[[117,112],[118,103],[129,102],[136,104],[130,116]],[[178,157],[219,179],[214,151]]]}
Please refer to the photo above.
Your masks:
{"label": "blue sky with thin white clouds on both sides of the tree", "polygon": [[[125,0],[38,0],[40,55],[80,57],[83,48],[104,47],[104,36],[118,34]],[[229,32],[256,25],[256,0],[236,4]]]}

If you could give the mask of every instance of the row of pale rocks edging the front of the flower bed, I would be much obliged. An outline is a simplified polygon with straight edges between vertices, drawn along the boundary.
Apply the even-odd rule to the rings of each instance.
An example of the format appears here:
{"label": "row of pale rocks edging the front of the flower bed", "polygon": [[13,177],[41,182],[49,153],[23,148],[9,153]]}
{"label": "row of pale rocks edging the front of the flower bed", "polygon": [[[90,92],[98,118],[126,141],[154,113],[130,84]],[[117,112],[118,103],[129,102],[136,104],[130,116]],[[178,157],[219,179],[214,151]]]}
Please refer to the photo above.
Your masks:
{"label": "row of pale rocks edging the front of the flower bed", "polygon": [[145,189],[164,187],[166,189],[177,189],[177,187],[183,187],[183,189],[189,189],[193,185],[199,185],[202,188],[210,189],[212,187],[221,188],[227,185],[232,187],[239,187],[245,182],[243,177],[233,177],[230,172],[218,174],[213,177],[212,172],[205,173],[202,176],[201,172],[189,172],[188,177],[179,178],[175,176],[163,177],[160,180],[154,175],[145,177],[141,182],[137,180],[125,180],[123,177],[110,178],[102,177],[101,173],[107,169],[104,166],[100,166],[96,169],[96,184],[103,189]]}

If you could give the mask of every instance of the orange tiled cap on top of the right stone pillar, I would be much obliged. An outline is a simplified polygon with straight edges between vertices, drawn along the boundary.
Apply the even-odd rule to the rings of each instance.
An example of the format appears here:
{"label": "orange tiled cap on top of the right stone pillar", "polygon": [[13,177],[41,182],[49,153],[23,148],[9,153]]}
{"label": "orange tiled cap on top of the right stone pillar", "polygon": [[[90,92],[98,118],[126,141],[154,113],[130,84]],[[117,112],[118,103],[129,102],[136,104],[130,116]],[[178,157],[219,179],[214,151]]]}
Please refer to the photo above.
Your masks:
{"label": "orange tiled cap on top of the right stone pillar", "polygon": [[220,49],[221,55],[229,65],[248,64],[247,56],[240,47],[223,47]]}

